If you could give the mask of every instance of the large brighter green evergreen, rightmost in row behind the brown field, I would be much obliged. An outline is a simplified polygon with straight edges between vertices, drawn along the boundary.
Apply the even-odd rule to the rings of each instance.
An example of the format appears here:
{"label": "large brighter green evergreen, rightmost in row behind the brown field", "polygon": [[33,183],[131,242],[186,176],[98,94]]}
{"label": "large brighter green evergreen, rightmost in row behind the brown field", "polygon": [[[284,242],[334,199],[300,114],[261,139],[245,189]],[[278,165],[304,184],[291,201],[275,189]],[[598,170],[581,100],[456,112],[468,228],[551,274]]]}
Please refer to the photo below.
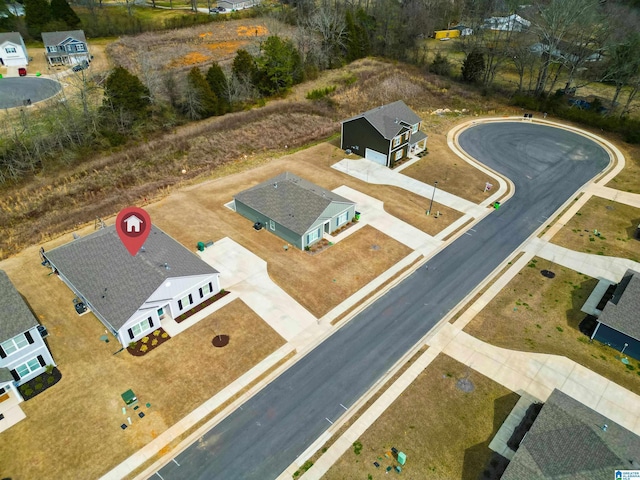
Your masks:
{"label": "large brighter green evergreen, rightmost in row behind the brown field", "polygon": [[302,59],[291,40],[271,36],[262,46],[254,84],[264,95],[279,95],[302,81]]}

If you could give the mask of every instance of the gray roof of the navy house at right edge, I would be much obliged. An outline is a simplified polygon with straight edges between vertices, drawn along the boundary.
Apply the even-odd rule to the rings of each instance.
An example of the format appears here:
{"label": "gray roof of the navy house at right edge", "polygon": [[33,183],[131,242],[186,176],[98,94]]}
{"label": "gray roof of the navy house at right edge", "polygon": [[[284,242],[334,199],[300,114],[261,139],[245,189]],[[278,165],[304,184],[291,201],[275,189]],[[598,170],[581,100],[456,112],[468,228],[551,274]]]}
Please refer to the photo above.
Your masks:
{"label": "gray roof of the navy house at right edge", "polygon": [[598,321],[640,340],[640,273],[627,270]]}

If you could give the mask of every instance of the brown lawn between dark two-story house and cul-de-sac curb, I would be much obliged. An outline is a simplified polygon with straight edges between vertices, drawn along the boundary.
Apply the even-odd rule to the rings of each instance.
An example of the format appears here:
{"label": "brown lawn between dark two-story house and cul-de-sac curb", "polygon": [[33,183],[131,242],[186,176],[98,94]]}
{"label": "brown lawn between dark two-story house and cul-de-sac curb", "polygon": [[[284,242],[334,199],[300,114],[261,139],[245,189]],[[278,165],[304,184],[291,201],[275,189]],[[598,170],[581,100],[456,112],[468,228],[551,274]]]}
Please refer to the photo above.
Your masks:
{"label": "brown lawn between dark two-story house and cul-de-sac curb", "polygon": [[[475,203],[490,197],[498,188],[495,177],[482,173],[449,149],[446,135],[429,135],[428,147],[429,154],[403,170],[404,175],[431,185],[437,181],[438,188]],[[485,192],[487,182],[493,190]]]}

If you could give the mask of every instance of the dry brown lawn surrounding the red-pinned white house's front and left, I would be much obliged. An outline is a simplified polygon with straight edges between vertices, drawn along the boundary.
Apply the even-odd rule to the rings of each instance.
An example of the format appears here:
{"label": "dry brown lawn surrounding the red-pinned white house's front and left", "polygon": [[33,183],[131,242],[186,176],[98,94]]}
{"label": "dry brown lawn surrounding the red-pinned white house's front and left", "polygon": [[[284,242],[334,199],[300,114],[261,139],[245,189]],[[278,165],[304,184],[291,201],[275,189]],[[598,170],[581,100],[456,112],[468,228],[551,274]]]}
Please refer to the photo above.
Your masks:
{"label": "dry brown lawn surrounding the red-pinned white house's front and left", "polygon": [[[119,344],[100,341],[104,327],[92,314],[75,313],[73,293],[39,265],[36,248],[0,268],[47,326],[62,372],[58,384],[21,405],[27,418],[1,434],[3,477],[98,478],[284,344],[235,300],[143,357],[114,355]],[[231,342],[217,349],[211,340],[220,333]],[[129,411],[133,425],[123,431],[120,394],[129,388],[146,416]],[[43,447],[33,448],[34,439]]]}

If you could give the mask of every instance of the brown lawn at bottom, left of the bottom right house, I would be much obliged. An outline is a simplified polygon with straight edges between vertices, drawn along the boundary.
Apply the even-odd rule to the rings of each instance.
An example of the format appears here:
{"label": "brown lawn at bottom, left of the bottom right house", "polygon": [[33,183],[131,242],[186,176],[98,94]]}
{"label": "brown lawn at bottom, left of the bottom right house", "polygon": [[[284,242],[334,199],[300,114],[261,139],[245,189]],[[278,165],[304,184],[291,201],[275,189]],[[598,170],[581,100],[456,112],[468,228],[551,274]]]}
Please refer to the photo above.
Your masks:
{"label": "brown lawn at bottom, left of the bottom right house", "polygon": [[[456,387],[468,378],[475,390]],[[443,401],[446,398],[446,401]],[[489,461],[489,442],[518,401],[518,395],[439,355],[323,477],[412,480],[475,480]],[[385,457],[391,447],[407,455],[402,473]],[[373,465],[377,461],[379,468]]]}

